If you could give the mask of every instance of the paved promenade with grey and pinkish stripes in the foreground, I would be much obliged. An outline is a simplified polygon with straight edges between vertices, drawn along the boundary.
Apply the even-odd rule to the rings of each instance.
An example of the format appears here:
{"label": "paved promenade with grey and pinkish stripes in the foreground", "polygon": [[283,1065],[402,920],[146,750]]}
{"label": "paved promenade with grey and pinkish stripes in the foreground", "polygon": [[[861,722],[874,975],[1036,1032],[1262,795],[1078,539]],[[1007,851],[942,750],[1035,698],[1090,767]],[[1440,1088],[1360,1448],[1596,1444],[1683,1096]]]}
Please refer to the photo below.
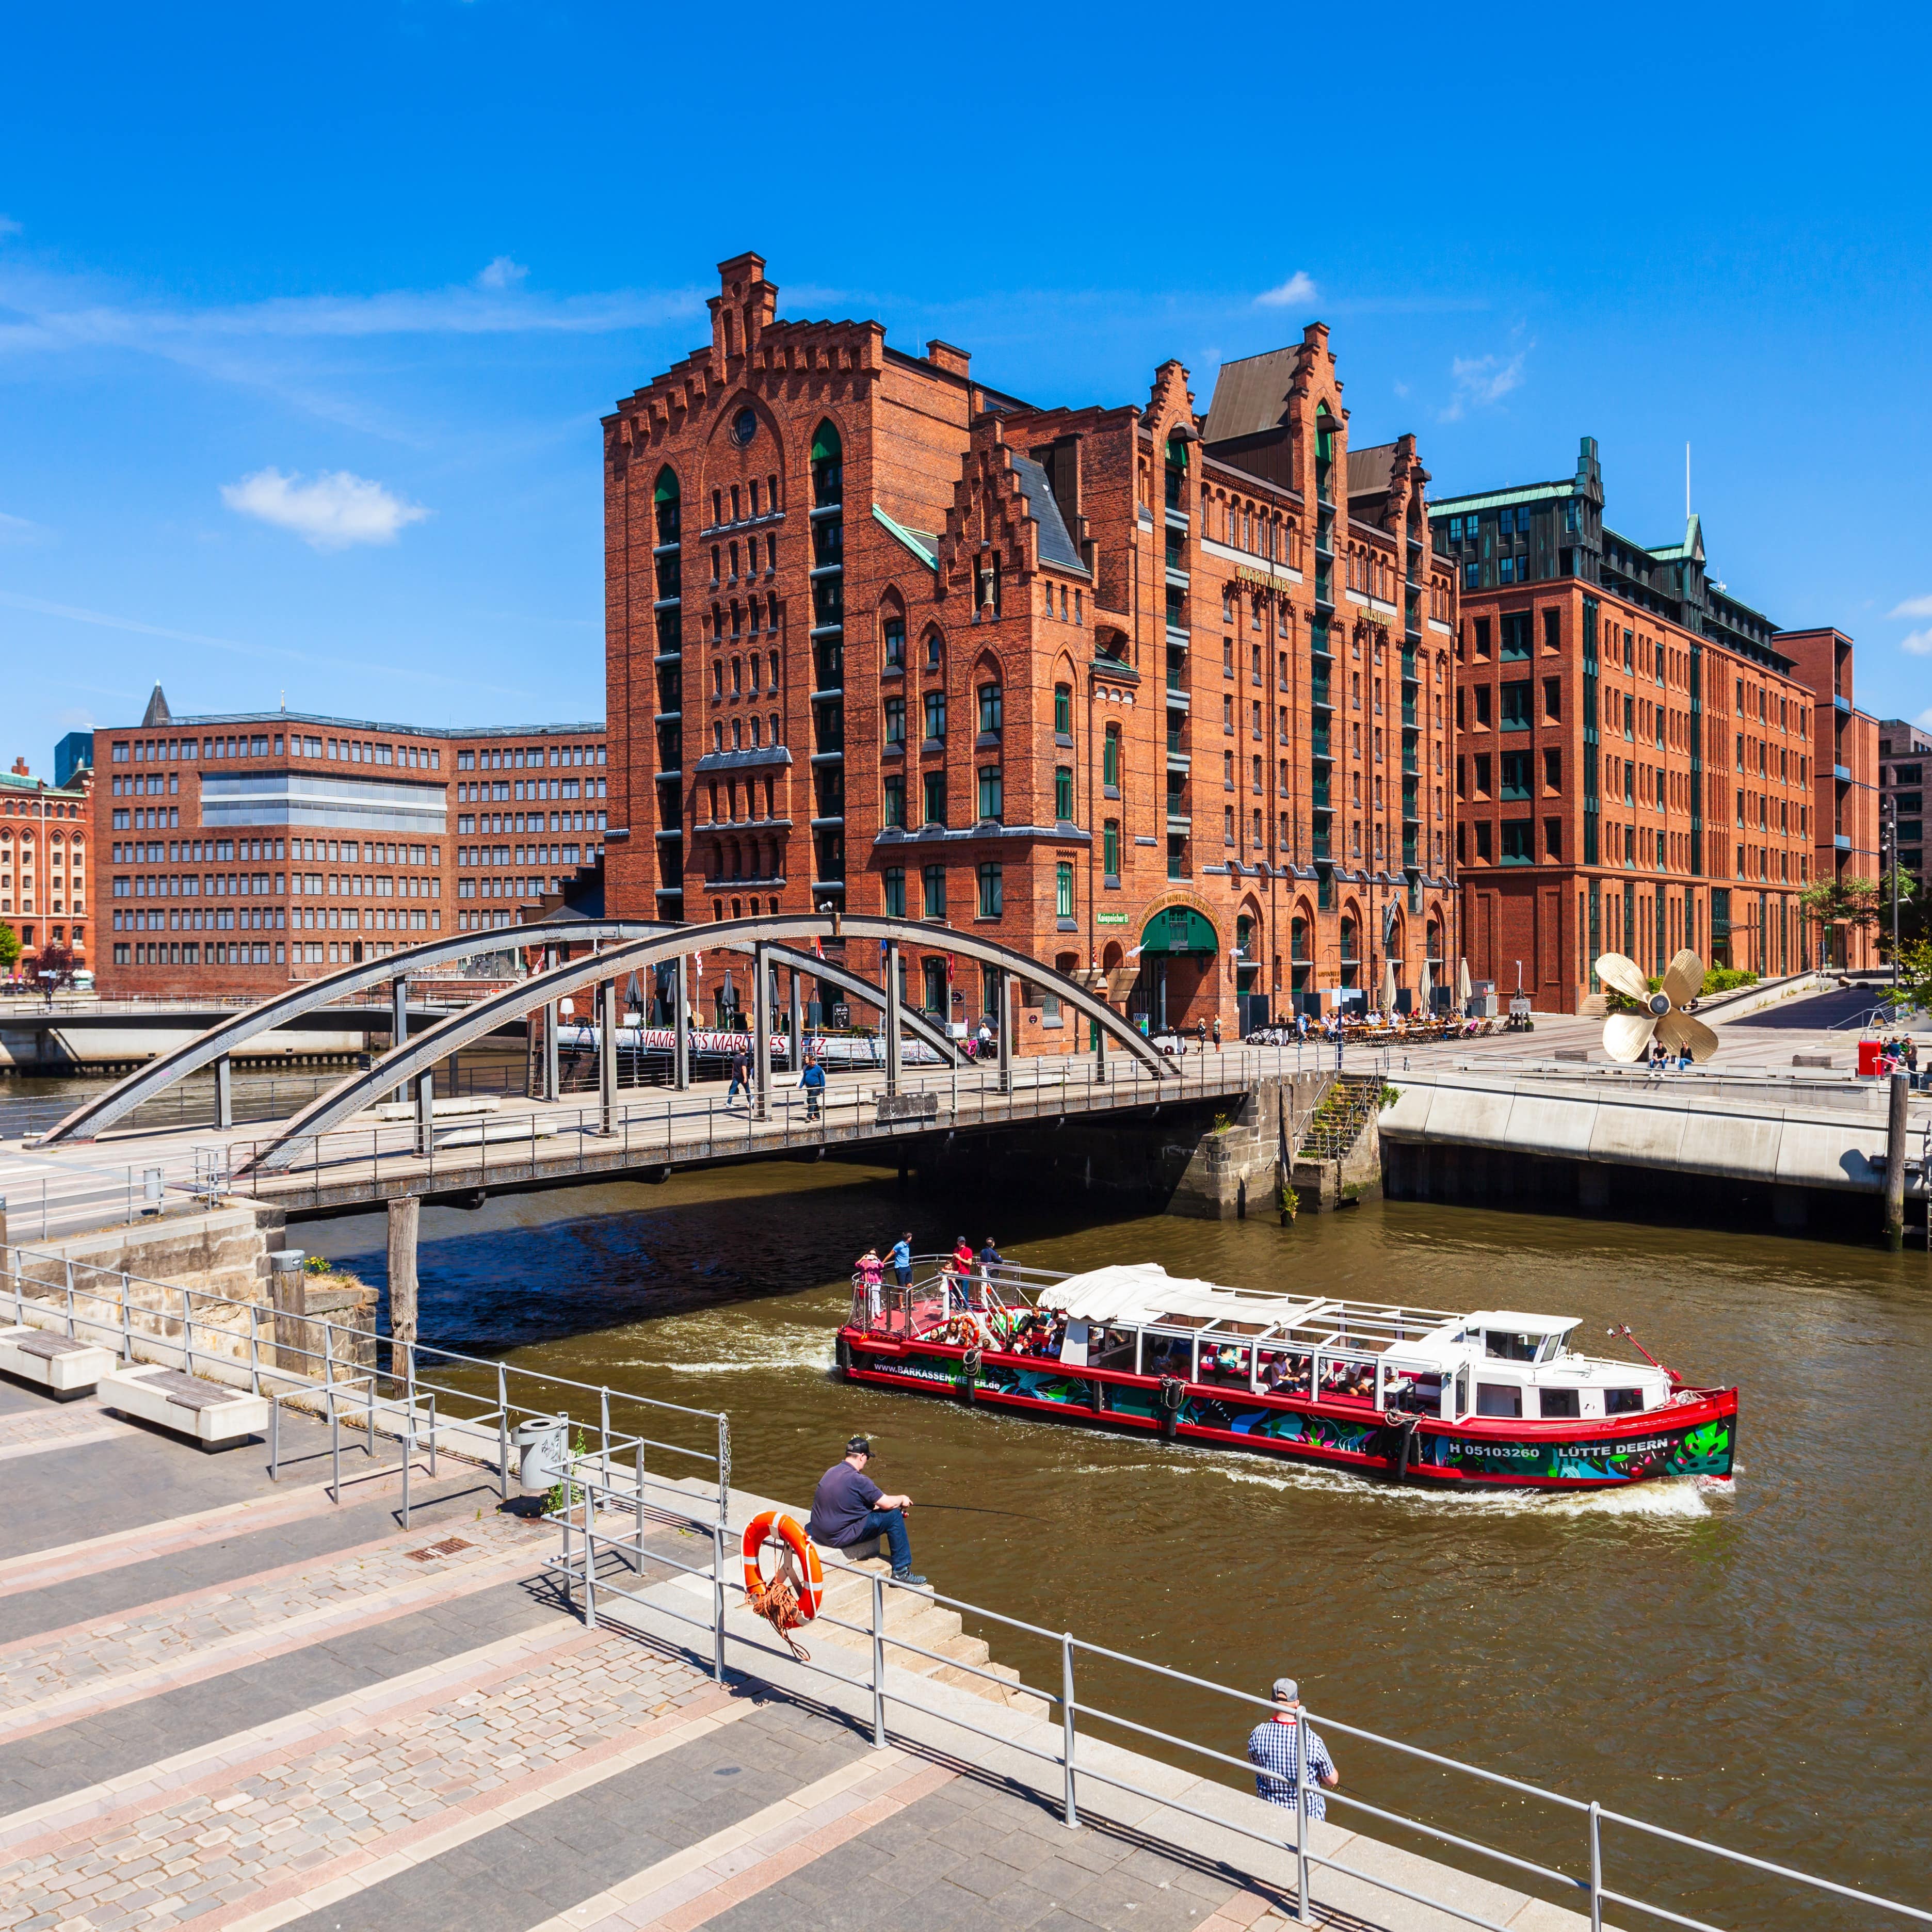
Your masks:
{"label": "paved promenade with grey and pinkish stripes in the foreground", "polygon": [[[933,1719],[895,1718],[873,1748],[864,1694],[798,1671],[742,1611],[713,1683],[649,1607],[688,1590],[659,1551],[709,1551],[672,1519],[628,1577],[645,1602],[607,1598],[626,1621],[585,1629],[543,1569],[554,1526],[500,1511],[495,1472],[444,1455],[404,1532],[394,1463],[336,1507],[321,1447],[286,1416],[272,1486],[261,1445],[209,1457],[0,1383],[6,1932],[1285,1922],[1287,1855],[1258,1868],[1265,1849],[1136,1799],[1088,1799],[1068,1830],[1051,1772],[999,1743],[966,1762]],[[1014,1739],[1039,1723],[920,1694]],[[1339,1828],[1321,1847],[1426,1872],[1495,1924],[1580,1924]],[[1318,1899],[1350,1932],[1457,1922],[1331,1874]]]}

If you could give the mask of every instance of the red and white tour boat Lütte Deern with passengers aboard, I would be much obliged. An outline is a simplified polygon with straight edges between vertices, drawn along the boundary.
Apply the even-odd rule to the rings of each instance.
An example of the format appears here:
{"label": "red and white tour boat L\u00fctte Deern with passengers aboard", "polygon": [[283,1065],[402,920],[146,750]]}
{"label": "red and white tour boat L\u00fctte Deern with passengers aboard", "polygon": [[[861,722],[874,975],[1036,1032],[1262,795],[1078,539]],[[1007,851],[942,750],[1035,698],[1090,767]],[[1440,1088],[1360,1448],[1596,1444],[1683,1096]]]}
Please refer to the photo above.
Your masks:
{"label": "red and white tour boat L\u00fctte Deern with passengers aboard", "polygon": [[1737,1391],[1580,1354],[1575,1316],[1264,1294],[1153,1264],[860,1285],[856,1381],[1449,1486],[1729,1476]]}

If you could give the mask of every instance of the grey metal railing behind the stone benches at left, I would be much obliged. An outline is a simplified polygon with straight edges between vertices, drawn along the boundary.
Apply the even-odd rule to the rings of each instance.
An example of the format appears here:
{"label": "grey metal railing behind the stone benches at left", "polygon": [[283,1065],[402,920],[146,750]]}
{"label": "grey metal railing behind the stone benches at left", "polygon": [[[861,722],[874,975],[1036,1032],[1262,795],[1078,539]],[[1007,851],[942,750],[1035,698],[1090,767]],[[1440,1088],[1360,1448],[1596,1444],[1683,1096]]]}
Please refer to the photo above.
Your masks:
{"label": "grey metal railing behind the stone benches at left", "polygon": [[[321,1416],[330,1432],[334,1501],[342,1499],[344,1426],[359,1430],[371,1459],[379,1435],[400,1443],[404,1526],[408,1474],[419,1451],[431,1470],[439,1449],[493,1468],[508,1499],[522,1422],[556,1422],[572,1453],[595,1459],[605,1472],[630,1464],[638,1480],[690,1501],[688,1486],[657,1472],[655,1464],[668,1459],[670,1470],[703,1476],[711,1511],[694,1520],[707,1526],[713,1517],[721,1524],[728,1519],[730,1418],[723,1410],[572,1381],[437,1343],[398,1343],[377,1327],[95,1267],[52,1248],[0,1246],[0,1310],[15,1327],[108,1349],[124,1368],[158,1364],[267,1397],[276,1476],[284,1461],[282,1408]],[[667,1430],[682,1439],[670,1439]]]}

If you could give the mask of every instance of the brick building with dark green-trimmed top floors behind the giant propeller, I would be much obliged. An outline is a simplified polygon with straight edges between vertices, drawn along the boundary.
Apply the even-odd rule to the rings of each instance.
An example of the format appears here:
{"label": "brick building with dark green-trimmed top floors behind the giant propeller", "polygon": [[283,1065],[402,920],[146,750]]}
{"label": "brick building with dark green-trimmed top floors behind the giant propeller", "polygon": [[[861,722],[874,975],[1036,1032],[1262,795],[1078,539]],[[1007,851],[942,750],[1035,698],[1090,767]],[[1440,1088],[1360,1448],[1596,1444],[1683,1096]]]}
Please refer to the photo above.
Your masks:
{"label": "brick building with dark green-trimmed top floors behind the giant propeller", "polygon": [[1605,951],[1646,972],[1679,947],[1799,970],[1799,895],[1845,854],[1833,827],[1862,796],[1835,759],[1839,744],[1862,755],[1837,724],[1849,639],[1837,697],[1818,668],[1818,639],[1837,634],[1779,632],[1712,582],[1698,518],[1675,545],[1617,535],[1592,437],[1573,477],[1441,498],[1430,516],[1461,591],[1472,972],[1511,991],[1520,966],[1536,1007],[1577,1012],[1602,991]]}

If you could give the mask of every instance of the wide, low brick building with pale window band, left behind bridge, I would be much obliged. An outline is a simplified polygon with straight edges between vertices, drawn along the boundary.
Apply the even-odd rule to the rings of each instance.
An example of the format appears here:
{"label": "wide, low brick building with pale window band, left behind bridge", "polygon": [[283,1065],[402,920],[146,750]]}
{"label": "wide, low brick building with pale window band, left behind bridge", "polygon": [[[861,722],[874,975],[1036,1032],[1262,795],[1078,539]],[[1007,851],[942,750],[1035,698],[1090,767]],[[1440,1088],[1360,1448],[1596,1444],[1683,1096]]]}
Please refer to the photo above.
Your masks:
{"label": "wide, low brick building with pale window band, left behind bridge", "polygon": [[[442,730],[298,711],[95,732],[100,991],[247,993],[514,927],[595,866],[601,724]],[[539,777],[541,773],[541,777]]]}

